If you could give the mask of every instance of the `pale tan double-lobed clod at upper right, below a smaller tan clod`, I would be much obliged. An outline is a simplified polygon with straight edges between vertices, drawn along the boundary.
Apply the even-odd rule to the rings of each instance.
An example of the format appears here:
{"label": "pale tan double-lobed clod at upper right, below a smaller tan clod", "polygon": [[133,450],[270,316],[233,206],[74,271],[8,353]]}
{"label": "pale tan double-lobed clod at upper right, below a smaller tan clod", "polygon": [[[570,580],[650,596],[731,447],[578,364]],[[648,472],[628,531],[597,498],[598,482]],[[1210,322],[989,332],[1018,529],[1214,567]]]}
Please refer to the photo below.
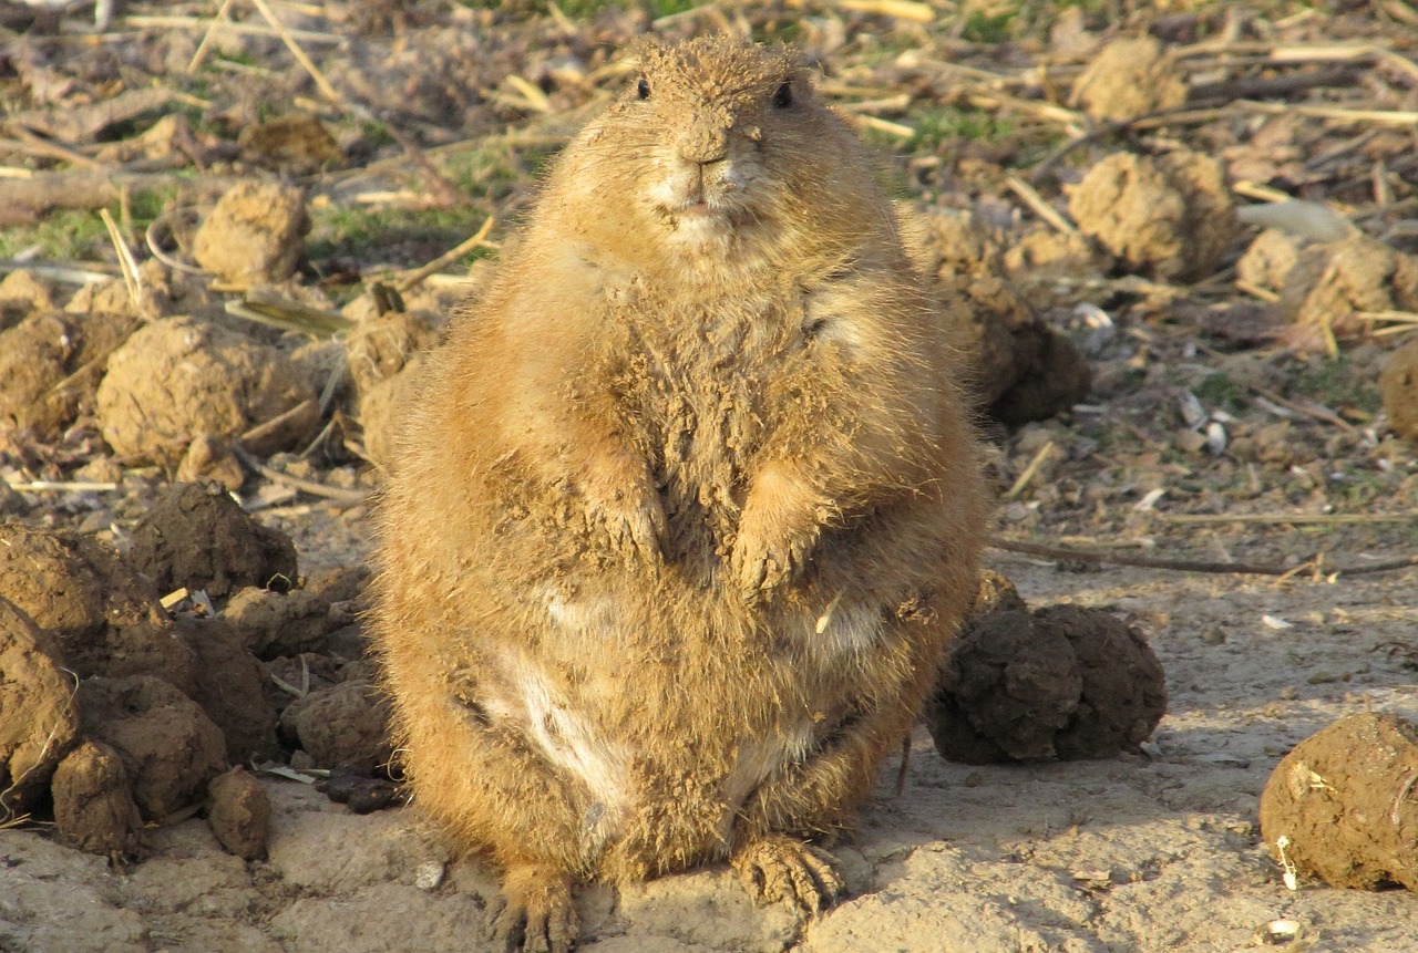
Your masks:
{"label": "pale tan double-lobed clod at upper right, below a smaller tan clod", "polygon": [[1113,153],[1065,191],[1085,234],[1159,280],[1211,275],[1239,229],[1221,163],[1184,149]]}

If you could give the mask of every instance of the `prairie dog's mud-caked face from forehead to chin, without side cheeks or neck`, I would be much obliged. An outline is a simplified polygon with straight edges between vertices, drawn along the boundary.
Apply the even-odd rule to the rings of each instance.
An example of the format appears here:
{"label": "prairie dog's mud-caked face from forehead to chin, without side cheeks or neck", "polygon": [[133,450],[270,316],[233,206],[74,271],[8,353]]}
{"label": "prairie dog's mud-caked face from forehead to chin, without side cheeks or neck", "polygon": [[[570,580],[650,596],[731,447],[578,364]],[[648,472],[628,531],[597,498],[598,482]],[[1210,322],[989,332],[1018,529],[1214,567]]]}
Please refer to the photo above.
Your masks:
{"label": "prairie dog's mud-caked face from forehead to chin, without side cheeks or neck", "polygon": [[706,38],[649,47],[641,65],[615,106],[644,136],[642,191],[627,198],[691,245],[781,224],[822,115],[794,61]]}

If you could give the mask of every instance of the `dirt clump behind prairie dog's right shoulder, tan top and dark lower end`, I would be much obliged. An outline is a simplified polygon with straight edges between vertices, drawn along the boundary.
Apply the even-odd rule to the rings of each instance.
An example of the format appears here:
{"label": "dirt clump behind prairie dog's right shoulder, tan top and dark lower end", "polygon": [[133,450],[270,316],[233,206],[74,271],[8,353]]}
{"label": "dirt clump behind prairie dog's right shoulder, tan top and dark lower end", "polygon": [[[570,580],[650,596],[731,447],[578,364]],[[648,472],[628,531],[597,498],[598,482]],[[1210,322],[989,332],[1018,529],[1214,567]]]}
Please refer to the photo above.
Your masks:
{"label": "dirt clump behind prairie dog's right shoulder, tan top and dark lower end", "polygon": [[[1083,354],[1021,297],[1007,278],[1001,244],[967,212],[932,210],[903,222],[912,256],[971,355],[980,404],[1020,425],[1078,404],[1092,387]],[[1086,249],[1079,249],[1086,255]]]}

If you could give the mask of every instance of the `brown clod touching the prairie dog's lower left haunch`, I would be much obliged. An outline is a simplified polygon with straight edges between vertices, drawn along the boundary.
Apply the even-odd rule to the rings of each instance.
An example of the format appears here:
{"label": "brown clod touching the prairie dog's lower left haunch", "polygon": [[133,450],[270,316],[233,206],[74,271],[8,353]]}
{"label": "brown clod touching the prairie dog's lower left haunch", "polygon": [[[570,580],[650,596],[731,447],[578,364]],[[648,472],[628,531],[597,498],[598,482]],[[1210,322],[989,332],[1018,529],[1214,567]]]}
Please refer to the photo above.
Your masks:
{"label": "brown clod touching the prairie dog's lower left haunch", "polygon": [[318,766],[349,765],[372,772],[393,756],[389,700],[367,678],[312,691],[281,712],[281,725],[301,741]]}

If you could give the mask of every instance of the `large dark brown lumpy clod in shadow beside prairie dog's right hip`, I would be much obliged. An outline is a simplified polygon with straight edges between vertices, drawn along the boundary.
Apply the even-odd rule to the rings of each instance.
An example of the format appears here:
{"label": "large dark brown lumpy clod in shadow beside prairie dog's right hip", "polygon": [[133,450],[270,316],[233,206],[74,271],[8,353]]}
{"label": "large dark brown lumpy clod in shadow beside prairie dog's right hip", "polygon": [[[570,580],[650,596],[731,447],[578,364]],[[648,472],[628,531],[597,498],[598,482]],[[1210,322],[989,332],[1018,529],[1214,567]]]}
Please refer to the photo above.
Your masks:
{"label": "large dark brown lumpy clod in shadow beside prairie dog's right hip", "polygon": [[1167,709],[1161,666],[1106,612],[1049,606],[980,616],[950,650],[926,724],[967,763],[1107,758]]}

